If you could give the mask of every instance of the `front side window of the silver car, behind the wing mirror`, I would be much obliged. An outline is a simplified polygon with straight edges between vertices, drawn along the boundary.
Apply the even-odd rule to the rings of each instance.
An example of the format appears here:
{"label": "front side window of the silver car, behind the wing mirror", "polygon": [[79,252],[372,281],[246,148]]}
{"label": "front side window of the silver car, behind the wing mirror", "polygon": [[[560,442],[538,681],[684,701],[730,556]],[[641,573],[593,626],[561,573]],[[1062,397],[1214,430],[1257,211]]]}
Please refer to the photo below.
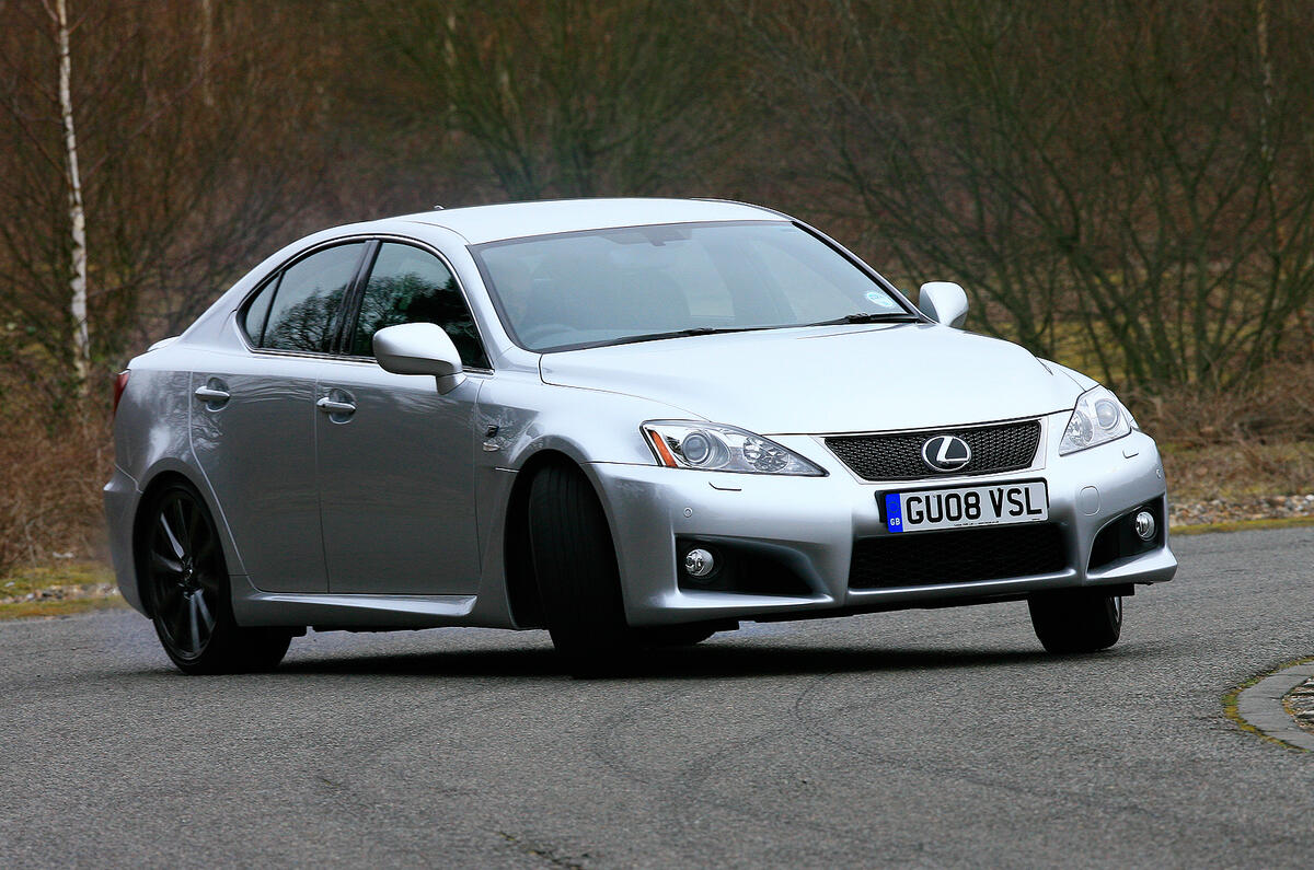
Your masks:
{"label": "front side window of the silver car, behind the wing mirror", "polygon": [[452,272],[436,256],[409,244],[384,243],[360,300],[348,354],[373,356],[374,332],[401,323],[442,326],[461,355],[461,364],[489,368],[474,319]]}

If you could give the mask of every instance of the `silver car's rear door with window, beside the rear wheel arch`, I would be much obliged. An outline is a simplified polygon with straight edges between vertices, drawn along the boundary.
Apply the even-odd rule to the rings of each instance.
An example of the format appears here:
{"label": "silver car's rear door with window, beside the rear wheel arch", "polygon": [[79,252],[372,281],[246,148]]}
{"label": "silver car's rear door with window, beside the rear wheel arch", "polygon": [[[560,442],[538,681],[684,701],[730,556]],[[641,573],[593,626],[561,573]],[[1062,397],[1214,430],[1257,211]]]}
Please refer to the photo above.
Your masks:
{"label": "silver car's rear door with window, beside the rear wheel arch", "polygon": [[327,589],[315,381],[365,247],[319,248],[275,273],[238,311],[248,347],[208,354],[192,373],[192,448],[258,589]]}

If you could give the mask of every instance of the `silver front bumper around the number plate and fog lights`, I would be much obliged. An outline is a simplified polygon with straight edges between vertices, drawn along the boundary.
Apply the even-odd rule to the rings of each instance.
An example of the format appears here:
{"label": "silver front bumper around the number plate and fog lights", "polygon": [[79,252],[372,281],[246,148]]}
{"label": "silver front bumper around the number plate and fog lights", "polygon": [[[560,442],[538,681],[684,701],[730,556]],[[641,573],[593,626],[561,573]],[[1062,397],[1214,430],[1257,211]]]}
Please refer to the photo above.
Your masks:
{"label": "silver front bumper around the number plate and fog lights", "polygon": [[[1059,432],[1067,414],[1047,419]],[[1129,586],[1172,580],[1177,561],[1160,544],[1147,552],[1089,569],[1096,536],[1127,511],[1158,503],[1167,519],[1163,465],[1151,438],[1126,438],[1070,456],[1058,456],[1056,436],[1042,440],[1042,461],[1021,472],[976,477],[879,484],[861,481],[811,436],[774,436],[828,470],[827,477],[773,477],[595,463],[591,476],[602,493],[616,538],[625,612],[632,626],[702,620],[798,619],[845,611],[933,607],[1025,597],[1030,593]],[[1045,480],[1049,522],[1062,532],[1060,570],[976,580],[943,577],[933,585],[850,587],[854,543],[887,536],[878,495],[928,486],[976,486]],[[1095,492],[1092,492],[1092,489]],[[1164,522],[1164,526],[1167,523]],[[996,527],[997,528],[997,527]],[[934,536],[941,532],[904,532]],[[719,541],[735,549],[770,553],[804,581],[787,594],[710,591],[679,582],[677,540]]]}

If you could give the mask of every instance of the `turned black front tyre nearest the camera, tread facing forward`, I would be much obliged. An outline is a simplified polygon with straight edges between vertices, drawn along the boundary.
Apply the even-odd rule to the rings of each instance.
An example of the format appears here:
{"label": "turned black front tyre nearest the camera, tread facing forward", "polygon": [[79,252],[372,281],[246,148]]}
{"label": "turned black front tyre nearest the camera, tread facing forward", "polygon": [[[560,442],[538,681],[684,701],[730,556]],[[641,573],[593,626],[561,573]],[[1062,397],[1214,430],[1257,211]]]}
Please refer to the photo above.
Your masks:
{"label": "turned black front tyre nearest the camera, tread facing forward", "polygon": [[632,648],[611,530],[583,472],[551,465],[530,489],[530,549],[552,645],[576,675]]}

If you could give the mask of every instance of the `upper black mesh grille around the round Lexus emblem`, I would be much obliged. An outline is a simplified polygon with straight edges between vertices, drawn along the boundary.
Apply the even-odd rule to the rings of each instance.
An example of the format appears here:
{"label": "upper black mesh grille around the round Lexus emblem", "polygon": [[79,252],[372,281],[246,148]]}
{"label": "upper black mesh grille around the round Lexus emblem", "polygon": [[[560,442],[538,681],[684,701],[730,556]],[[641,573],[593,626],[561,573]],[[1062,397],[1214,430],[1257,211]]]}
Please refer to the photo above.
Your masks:
{"label": "upper black mesh grille around the round Lexus emblem", "polygon": [[940,428],[892,435],[837,435],[825,446],[863,480],[917,480],[936,476],[921,459],[928,438],[957,435],[967,442],[972,459],[954,474],[996,474],[1029,468],[1041,443],[1039,421]]}

